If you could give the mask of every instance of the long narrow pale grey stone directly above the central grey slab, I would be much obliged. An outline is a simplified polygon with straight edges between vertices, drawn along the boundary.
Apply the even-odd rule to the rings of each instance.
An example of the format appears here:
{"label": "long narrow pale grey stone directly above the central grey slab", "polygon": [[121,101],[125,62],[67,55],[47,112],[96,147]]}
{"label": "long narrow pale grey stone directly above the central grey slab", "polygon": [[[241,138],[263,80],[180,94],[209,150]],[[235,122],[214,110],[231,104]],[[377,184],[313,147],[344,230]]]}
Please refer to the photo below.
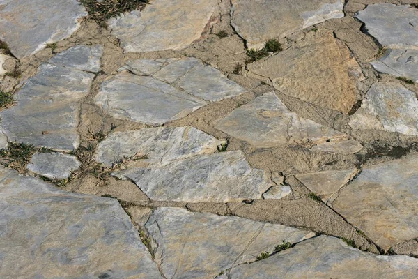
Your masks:
{"label": "long narrow pale grey stone directly above the central grey slab", "polygon": [[165,165],[172,160],[214,153],[221,143],[193,127],[144,128],[109,135],[98,145],[95,160],[111,167],[123,158],[146,156],[150,163]]}

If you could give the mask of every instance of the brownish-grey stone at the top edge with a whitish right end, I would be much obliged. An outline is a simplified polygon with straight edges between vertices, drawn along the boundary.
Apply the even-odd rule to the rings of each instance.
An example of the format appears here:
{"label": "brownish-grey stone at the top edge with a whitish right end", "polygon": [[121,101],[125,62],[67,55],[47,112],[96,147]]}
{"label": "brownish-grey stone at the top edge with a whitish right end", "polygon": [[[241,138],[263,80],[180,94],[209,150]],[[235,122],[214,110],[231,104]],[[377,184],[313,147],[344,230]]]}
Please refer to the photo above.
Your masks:
{"label": "brownish-grey stone at the top edge with a whitish right end", "polygon": [[233,27],[250,48],[261,48],[271,38],[344,16],[343,0],[232,0],[232,4]]}

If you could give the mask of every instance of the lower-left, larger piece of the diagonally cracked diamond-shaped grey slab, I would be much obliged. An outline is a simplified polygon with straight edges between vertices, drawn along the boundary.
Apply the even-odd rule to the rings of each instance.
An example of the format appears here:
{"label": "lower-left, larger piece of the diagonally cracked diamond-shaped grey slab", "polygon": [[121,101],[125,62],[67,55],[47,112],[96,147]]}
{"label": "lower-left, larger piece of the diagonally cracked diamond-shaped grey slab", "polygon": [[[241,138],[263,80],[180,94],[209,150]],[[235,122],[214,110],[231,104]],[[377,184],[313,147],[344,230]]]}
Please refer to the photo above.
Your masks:
{"label": "lower-left, larger piece of the diagonally cracked diamond-shaped grey slab", "polygon": [[95,103],[117,119],[155,126],[187,116],[203,105],[170,84],[125,72],[102,83]]}

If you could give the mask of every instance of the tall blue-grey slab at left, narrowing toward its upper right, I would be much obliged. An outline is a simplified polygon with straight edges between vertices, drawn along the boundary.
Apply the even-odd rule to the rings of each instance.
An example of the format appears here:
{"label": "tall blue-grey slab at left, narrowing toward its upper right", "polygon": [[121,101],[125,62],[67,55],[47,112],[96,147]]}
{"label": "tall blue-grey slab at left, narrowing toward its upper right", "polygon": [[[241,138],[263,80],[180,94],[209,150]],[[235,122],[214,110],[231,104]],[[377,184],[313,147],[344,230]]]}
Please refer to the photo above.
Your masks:
{"label": "tall blue-grey slab at left, narrowing toward its upper right", "polygon": [[[17,105],[0,112],[1,128],[10,142],[70,151],[79,145],[77,133],[79,104],[90,90],[94,74],[77,70],[89,65],[99,68],[96,56],[84,56],[86,49],[100,53],[101,47],[75,47],[52,58],[60,65],[43,63],[35,76],[15,94]],[[86,61],[69,60],[81,52]],[[50,62],[50,61],[49,61]]]}

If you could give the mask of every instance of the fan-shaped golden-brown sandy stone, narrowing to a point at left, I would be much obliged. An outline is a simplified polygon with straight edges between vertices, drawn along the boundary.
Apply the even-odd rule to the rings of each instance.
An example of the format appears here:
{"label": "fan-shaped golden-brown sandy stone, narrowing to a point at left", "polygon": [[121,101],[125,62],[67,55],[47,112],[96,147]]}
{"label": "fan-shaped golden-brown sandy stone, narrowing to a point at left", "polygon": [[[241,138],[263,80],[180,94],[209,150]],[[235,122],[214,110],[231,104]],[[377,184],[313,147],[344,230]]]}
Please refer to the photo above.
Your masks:
{"label": "fan-shaped golden-brown sandy stone, narrowing to a point at left", "polygon": [[364,79],[350,50],[330,31],[312,32],[310,38],[247,68],[250,77],[281,93],[344,114],[355,104],[357,82]]}

